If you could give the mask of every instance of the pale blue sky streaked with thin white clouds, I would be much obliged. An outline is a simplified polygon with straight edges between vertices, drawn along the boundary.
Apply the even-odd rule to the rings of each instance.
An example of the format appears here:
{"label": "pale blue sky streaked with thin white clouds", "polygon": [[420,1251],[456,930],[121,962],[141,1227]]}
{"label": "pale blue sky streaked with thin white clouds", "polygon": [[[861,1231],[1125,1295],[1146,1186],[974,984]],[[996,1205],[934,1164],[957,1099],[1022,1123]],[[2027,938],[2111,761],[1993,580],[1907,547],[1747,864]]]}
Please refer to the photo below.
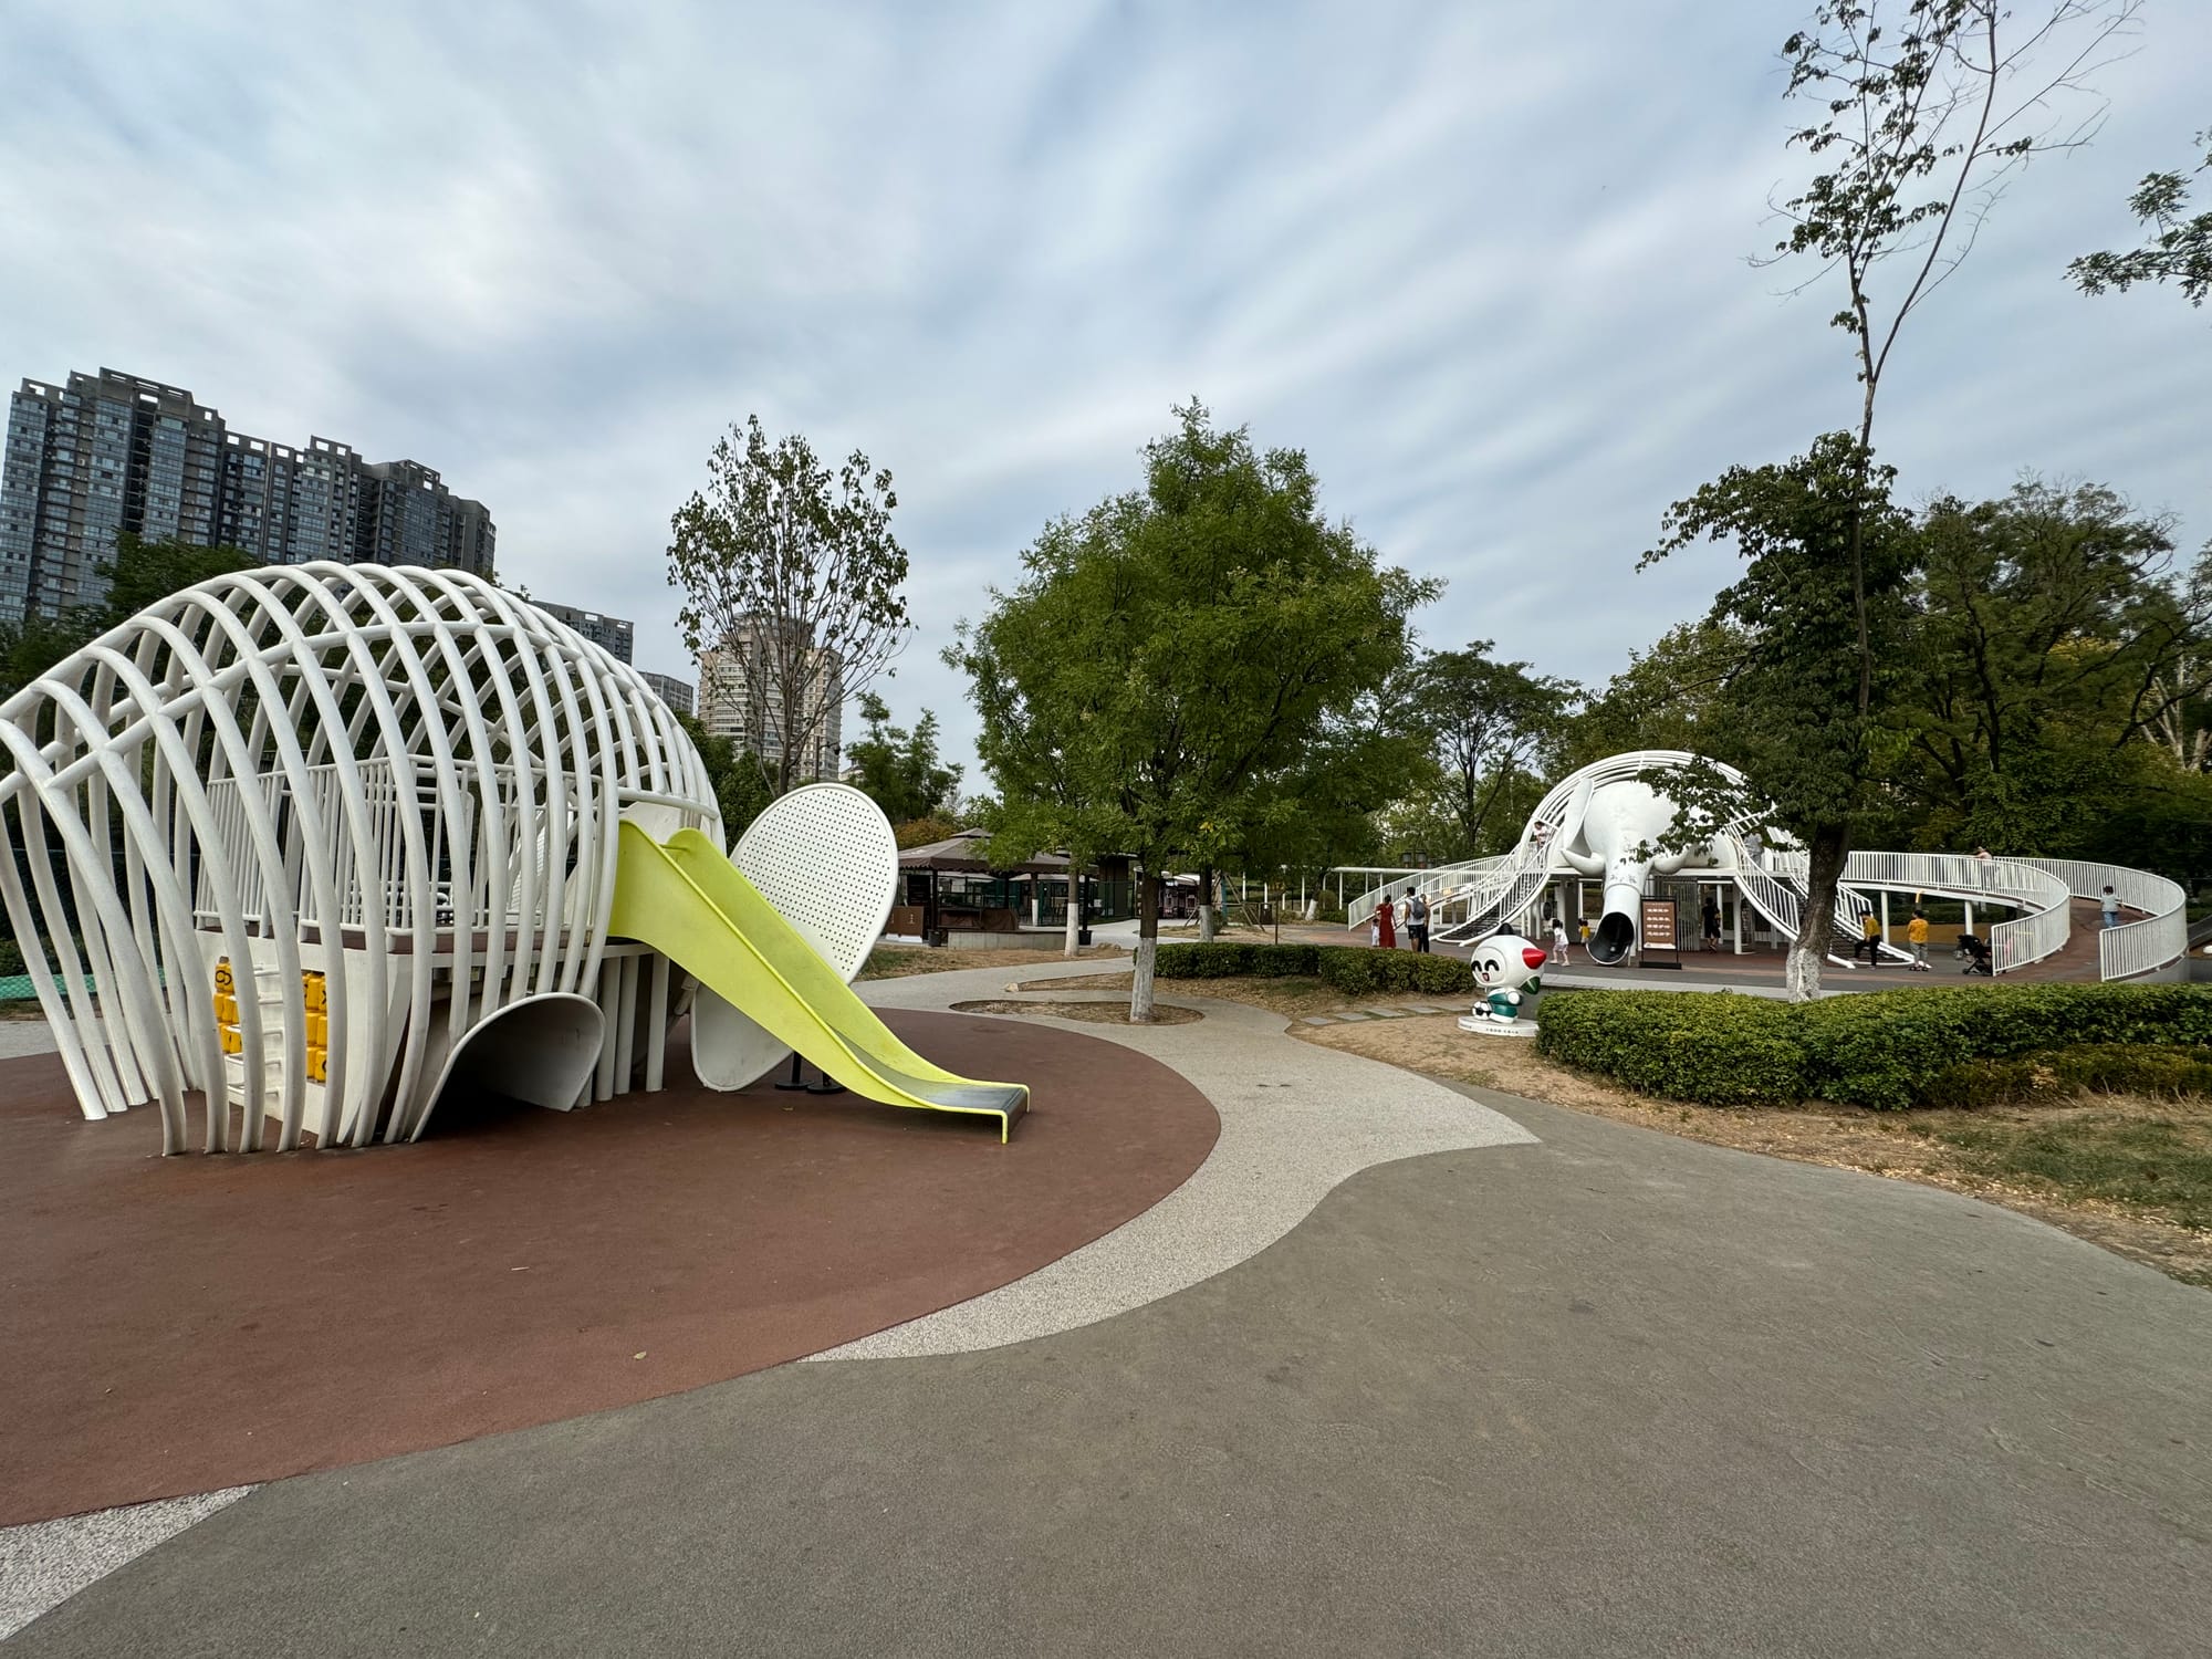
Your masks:
{"label": "pale blue sky streaked with thin white clouds", "polygon": [[[106,365],[436,467],[504,582],[686,679],[668,518],[717,436],[860,447],[918,624],[878,690],[971,790],[938,650],[1192,396],[1444,577],[1429,644],[1601,684],[1732,580],[1635,571],[1668,502],[1856,414],[1838,290],[1750,263],[1805,170],[1807,11],[0,0],[0,374]],[[2205,64],[2212,4],[2146,0],[2095,144],[1907,325],[1876,438],[1907,498],[2033,471],[2212,540],[2212,310],[2064,281],[2201,159]]]}

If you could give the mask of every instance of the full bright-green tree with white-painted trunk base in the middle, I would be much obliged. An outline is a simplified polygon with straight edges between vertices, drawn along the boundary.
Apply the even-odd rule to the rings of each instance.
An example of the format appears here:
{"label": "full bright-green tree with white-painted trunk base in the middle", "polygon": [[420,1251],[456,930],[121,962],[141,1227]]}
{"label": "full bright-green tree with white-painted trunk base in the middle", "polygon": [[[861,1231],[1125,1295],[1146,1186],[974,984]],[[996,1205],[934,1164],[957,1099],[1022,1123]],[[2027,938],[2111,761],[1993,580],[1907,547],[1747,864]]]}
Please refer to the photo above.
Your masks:
{"label": "full bright-green tree with white-painted trunk base in the middle", "polygon": [[1152,1015],[1161,874],[1294,807],[1307,752],[1402,668],[1407,613],[1438,593],[1323,518],[1301,451],[1259,453],[1197,403],[1177,420],[1144,489],[1048,524],[949,653],[1000,838],[1141,863],[1133,1022]]}

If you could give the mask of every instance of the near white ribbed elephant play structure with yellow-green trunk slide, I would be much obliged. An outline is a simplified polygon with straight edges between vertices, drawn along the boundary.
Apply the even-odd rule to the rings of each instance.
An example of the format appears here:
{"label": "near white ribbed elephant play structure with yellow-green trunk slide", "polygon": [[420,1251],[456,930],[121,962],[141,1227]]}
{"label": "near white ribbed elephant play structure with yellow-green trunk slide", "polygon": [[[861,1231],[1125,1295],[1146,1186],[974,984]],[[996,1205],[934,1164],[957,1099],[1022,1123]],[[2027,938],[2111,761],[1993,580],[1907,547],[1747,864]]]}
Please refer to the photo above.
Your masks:
{"label": "near white ribbed elephant play structure with yellow-green trunk slide", "polygon": [[[801,1051],[860,1095],[998,1117],[845,989],[896,847],[854,790],[737,863],[706,765],[624,661],[460,571],[217,577],[0,706],[0,900],[86,1117],[184,1150],[422,1135],[453,1086],[551,1108]],[[765,894],[765,898],[763,898]],[[232,1115],[237,1113],[237,1121]]]}

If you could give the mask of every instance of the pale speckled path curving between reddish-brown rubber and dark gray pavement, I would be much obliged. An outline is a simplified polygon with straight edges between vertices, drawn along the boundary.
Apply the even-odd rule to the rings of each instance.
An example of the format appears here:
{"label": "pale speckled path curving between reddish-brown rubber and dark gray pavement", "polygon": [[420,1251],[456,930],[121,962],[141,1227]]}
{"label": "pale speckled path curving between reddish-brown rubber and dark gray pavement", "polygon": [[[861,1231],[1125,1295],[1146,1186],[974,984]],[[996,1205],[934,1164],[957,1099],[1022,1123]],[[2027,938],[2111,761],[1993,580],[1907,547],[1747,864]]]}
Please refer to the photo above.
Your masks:
{"label": "pale speckled path curving between reddish-brown rubber and dark gray pavement", "polygon": [[[1009,980],[1097,971],[1097,962],[973,969],[860,989],[874,1006],[945,1009],[982,995],[1022,1000],[1009,995]],[[967,1354],[1091,1325],[1259,1254],[1336,1186],[1376,1164],[1535,1139],[1502,1113],[1427,1077],[1296,1042],[1285,1035],[1283,1015],[1267,1009],[1186,995],[1181,982],[1164,980],[1159,991],[1164,1002],[1190,1004],[1206,1018],[1186,1026],[1037,1022],[1135,1048],[1197,1084],[1221,1117],[1206,1164],[1144,1214],[1026,1279],[812,1358]],[[1029,1000],[1048,1002],[1053,993]]]}

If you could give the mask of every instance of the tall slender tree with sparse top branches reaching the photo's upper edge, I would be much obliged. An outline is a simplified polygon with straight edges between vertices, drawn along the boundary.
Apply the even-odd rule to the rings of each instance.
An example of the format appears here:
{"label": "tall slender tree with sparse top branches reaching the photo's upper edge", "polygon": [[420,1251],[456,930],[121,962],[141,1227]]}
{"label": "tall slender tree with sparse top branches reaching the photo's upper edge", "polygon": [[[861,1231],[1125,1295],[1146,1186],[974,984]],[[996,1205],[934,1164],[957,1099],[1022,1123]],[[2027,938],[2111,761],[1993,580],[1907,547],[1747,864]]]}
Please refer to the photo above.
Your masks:
{"label": "tall slender tree with sparse top branches reaching the photo's upper edge", "polygon": [[[2139,0],[2035,0],[2024,7],[2013,0],[1820,0],[1812,22],[1783,42],[1787,91],[1812,102],[1816,113],[1790,144],[1812,157],[1816,173],[1776,201],[1790,232],[1772,257],[1812,257],[1818,270],[1805,288],[1840,283],[1843,305],[1829,321],[1851,338],[1858,420],[1851,431],[1816,440],[1790,467],[1732,469],[1677,502],[1655,555],[1712,533],[1736,540],[1759,573],[1752,586],[1776,595],[1816,595],[1834,575],[1843,580],[1834,597],[1854,670],[1843,684],[1825,672],[1829,637],[1776,628],[1774,617],[1754,630],[1756,650],[1736,675],[1739,681],[1765,675],[1781,641],[1794,639],[1823,666],[1814,684],[1836,697],[1832,714],[1843,734],[1836,745],[1814,748],[1827,757],[1818,783],[1798,765],[1803,750],[1765,741],[1745,750],[1752,790],[1772,801],[1790,799],[1785,818],[1814,827],[1805,927],[1790,953],[1792,995],[1818,995],[1827,916],[1851,830],[1871,805],[1863,792],[1874,785],[1865,761],[1882,712],[1876,611],[1885,582],[1902,582],[1893,571],[1885,568],[1882,580],[1876,573],[1876,526],[1887,542],[1896,511],[1889,476],[1874,458],[1885,376],[1898,361],[1905,325],[1960,270],[2011,175],[2035,155],[2086,144],[2095,133],[2101,104],[2088,95],[2088,82],[2137,11]],[[1796,577],[1783,571],[1792,549],[1807,562]],[[1882,557],[1887,562],[1887,546]],[[1759,624],[1732,597],[1741,593],[1745,584],[1721,595],[1717,622]],[[1767,684],[1783,706],[1794,703],[1785,681]],[[1776,765],[1772,776],[1759,770],[1767,759]],[[1692,796],[1708,792],[1697,781],[1683,787]]]}

